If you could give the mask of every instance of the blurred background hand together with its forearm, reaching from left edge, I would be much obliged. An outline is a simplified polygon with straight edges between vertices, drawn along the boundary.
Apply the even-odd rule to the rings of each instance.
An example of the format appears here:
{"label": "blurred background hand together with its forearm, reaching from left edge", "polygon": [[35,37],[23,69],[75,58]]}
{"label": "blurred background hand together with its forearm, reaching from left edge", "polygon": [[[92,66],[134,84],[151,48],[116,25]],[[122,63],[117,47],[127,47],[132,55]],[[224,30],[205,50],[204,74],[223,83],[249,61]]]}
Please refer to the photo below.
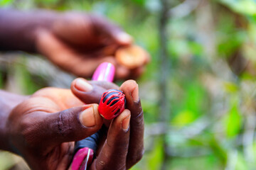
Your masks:
{"label": "blurred background hand together with its forearm, reaching from left edge", "polygon": [[131,45],[132,37],[102,16],[1,8],[0,16],[0,51],[38,52],[80,77],[91,77],[100,63],[112,62],[116,79],[134,79],[149,62],[145,52],[142,65],[128,69],[118,64],[117,48]]}

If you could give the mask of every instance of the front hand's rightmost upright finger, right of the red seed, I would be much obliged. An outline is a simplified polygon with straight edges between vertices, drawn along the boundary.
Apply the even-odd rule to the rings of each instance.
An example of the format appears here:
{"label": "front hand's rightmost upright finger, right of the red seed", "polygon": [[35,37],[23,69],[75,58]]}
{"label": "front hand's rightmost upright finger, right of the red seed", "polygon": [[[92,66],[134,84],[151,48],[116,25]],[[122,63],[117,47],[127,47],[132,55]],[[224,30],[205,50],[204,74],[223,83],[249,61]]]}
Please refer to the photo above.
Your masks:
{"label": "front hand's rightmost upright finger, right of the red seed", "polygon": [[144,154],[144,117],[139,99],[139,87],[136,81],[125,81],[120,89],[127,99],[126,108],[131,111],[131,135],[127,154],[127,169],[142,159]]}

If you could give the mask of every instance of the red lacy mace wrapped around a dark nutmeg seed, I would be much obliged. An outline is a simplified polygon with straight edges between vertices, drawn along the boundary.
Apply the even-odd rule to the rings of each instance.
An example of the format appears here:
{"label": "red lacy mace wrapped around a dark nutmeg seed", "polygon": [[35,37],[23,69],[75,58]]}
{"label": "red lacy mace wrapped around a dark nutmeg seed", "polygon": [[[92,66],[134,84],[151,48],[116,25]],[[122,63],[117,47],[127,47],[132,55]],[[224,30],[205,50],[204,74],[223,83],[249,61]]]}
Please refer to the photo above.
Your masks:
{"label": "red lacy mace wrapped around a dark nutmeg seed", "polygon": [[111,120],[124,111],[125,103],[126,99],[122,91],[107,90],[100,98],[99,113],[103,118]]}

